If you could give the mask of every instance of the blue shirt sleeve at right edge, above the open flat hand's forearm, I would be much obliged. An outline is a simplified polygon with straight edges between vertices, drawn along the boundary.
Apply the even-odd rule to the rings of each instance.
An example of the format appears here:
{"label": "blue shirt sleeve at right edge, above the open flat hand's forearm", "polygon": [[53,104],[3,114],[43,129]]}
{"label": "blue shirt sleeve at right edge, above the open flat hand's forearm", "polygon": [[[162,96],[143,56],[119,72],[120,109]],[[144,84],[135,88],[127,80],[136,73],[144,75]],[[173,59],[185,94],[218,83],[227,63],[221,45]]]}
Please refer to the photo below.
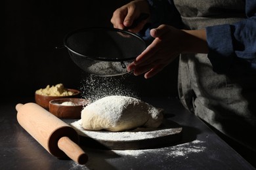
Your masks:
{"label": "blue shirt sleeve at right edge, above the open flat hand's forearm", "polygon": [[235,24],[206,27],[213,71],[226,73],[238,61],[256,71],[256,1],[245,1],[247,18]]}

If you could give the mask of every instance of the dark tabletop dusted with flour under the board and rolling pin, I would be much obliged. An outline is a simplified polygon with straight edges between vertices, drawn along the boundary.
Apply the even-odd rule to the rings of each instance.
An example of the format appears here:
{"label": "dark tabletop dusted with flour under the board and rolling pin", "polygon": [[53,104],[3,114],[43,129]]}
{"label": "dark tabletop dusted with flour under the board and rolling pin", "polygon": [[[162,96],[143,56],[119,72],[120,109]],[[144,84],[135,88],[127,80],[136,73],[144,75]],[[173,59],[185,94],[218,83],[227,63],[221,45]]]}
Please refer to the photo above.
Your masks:
{"label": "dark tabletop dusted with flour under the board and rolling pin", "polygon": [[140,150],[81,146],[89,156],[85,165],[55,158],[18,124],[15,105],[33,100],[1,103],[0,169],[254,169],[178,99],[142,99],[163,108],[168,120],[182,126],[181,141]]}

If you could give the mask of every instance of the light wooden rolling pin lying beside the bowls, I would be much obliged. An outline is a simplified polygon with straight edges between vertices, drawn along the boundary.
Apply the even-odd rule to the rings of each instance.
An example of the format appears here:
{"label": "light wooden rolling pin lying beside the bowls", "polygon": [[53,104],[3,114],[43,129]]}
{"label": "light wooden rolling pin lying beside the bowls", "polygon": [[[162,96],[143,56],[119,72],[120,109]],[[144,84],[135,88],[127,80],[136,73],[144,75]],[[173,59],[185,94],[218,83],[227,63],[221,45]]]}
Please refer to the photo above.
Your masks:
{"label": "light wooden rolling pin lying beside the bowls", "polygon": [[35,103],[18,104],[16,110],[20,126],[50,154],[60,159],[68,156],[81,165],[87,162],[75,129]]}

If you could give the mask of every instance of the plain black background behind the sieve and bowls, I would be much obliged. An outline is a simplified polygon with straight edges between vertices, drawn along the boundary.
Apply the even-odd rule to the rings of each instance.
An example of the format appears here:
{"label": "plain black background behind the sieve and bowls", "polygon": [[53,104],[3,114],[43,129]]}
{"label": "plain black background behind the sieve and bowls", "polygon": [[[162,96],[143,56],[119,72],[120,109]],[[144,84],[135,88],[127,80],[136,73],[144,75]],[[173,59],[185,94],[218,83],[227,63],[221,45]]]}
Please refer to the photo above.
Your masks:
{"label": "plain black background behind the sieve and bowls", "polygon": [[[5,1],[1,99],[33,96],[48,84],[80,88],[86,75],[68,56],[63,37],[81,27],[112,27],[112,13],[127,1]],[[118,77],[116,77],[118,78]],[[144,79],[127,76],[139,95],[177,96],[177,61]]]}

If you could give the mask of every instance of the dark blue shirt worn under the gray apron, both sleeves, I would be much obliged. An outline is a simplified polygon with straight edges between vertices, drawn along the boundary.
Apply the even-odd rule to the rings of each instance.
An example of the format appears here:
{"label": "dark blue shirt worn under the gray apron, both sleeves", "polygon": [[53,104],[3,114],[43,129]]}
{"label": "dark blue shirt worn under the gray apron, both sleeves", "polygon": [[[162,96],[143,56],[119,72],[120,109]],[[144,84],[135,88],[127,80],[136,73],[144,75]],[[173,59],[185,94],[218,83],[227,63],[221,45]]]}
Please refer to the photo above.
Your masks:
{"label": "dark blue shirt worn under the gray apron, both sleeves", "polygon": [[[181,16],[171,0],[148,0],[152,25],[143,35],[148,44],[152,42],[150,29],[160,24],[181,28]],[[236,24],[206,27],[208,58],[213,71],[226,73],[230,67],[245,67],[256,72],[256,1],[245,0],[247,18]],[[244,68],[242,68],[244,69]]]}

